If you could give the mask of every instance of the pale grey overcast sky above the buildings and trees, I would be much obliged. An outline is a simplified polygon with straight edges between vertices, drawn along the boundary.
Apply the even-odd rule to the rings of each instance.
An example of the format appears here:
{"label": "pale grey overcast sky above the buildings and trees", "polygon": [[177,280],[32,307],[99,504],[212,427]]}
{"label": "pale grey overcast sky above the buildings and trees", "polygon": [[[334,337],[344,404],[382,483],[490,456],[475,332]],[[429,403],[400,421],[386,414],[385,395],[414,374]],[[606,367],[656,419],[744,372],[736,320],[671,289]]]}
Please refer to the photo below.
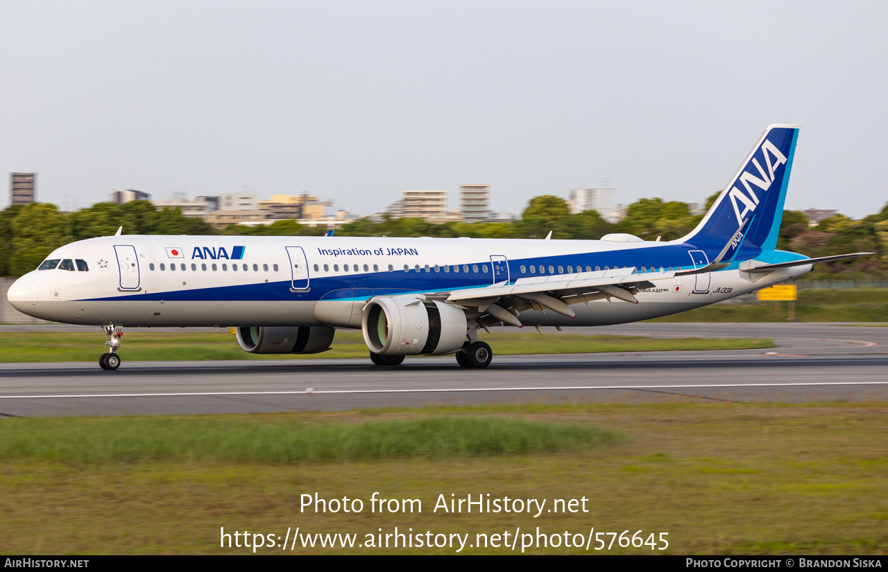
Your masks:
{"label": "pale grey overcast sky above the buildings and trees", "polygon": [[[787,208],[888,201],[888,4],[0,0],[0,204],[491,186],[702,202],[800,123]],[[66,199],[67,197],[67,199]]]}

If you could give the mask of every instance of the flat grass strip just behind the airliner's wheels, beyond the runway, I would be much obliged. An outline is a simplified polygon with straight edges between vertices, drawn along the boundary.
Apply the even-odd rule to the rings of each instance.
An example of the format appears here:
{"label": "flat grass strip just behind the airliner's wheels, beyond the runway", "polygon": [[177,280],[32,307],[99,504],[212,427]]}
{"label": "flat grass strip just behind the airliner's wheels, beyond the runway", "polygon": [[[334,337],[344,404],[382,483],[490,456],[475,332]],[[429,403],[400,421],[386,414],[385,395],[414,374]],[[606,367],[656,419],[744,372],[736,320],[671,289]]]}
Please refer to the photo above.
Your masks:
{"label": "flat grass strip just behind the airliner's wheels, beyond the runway", "polygon": [[[633,336],[540,336],[531,332],[496,332],[482,336],[497,355],[595,354],[601,352],[669,352],[773,347],[770,339],[643,338]],[[0,333],[0,362],[97,361],[106,351],[103,335],[83,332]],[[257,355],[244,352],[227,332],[170,334],[127,330],[121,355],[124,361],[342,359],[367,358],[369,350],[360,331],[337,331],[333,348],[323,354]]]}

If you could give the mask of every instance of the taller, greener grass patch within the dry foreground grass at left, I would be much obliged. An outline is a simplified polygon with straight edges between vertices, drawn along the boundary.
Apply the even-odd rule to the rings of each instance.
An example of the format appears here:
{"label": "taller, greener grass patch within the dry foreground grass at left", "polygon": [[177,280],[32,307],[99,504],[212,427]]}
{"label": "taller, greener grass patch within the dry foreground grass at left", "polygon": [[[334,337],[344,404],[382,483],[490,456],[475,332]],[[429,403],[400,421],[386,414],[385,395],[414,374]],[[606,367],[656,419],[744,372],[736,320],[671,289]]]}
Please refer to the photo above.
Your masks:
{"label": "taller, greener grass patch within the dry foreground grass at left", "polygon": [[502,417],[424,417],[361,424],[213,417],[7,419],[0,458],[113,464],[489,457],[588,449],[620,436],[598,427]]}

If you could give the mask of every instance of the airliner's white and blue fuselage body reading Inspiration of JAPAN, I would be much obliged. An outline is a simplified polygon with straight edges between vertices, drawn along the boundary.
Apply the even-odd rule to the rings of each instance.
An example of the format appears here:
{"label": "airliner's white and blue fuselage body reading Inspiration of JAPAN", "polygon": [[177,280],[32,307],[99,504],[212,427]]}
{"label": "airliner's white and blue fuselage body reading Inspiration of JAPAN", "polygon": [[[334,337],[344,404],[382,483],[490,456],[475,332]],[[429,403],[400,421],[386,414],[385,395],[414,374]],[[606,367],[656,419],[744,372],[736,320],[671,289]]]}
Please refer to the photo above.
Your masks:
{"label": "airliner's white and blue fuselage body reading Inspiration of JAPAN", "polygon": [[[54,250],[22,276],[12,305],[53,322],[126,326],[361,328],[369,298],[450,292],[522,279],[563,280],[692,270],[718,255],[686,242],[472,238],[118,235]],[[525,325],[636,322],[706,306],[804,274],[796,266],[750,275],[740,261],[805,258],[742,248],[718,272],[676,276],[615,299],[572,306],[576,318],[525,312]]]}

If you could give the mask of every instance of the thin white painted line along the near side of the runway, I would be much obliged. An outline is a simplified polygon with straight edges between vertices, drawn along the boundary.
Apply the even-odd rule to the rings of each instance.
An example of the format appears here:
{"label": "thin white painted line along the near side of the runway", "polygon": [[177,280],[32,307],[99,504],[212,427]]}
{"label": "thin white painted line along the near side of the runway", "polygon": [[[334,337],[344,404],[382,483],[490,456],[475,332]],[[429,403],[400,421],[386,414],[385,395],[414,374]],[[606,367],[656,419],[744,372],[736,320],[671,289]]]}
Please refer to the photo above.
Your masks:
{"label": "thin white painted line along the near side of the runway", "polygon": [[317,395],[319,393],[478,393],[478,392],[527,392],[527,391],[569,391],[590,389],[716,389],[726,387],[810,387],[814,385],[888,385],[888,381],[842,381],[805,382],[776,384],[707,384],[707,385],[565,385],[553,387],[454,387],[452,389],[313,389],[311,393],[288,392],[195,392],[195,393],[88,393],[68,395],[0,395],[0,399],[70,399],[77,397],[212,397],[214,395]]}

